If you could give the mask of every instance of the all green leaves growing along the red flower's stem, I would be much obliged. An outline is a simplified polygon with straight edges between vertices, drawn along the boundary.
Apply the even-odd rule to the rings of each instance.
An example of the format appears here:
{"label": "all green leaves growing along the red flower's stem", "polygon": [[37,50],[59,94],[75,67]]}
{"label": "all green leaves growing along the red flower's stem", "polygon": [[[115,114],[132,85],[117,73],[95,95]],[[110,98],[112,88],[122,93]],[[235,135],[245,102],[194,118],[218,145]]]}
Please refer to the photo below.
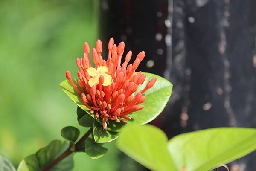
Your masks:
{"label": "all green leaves growing along the red flower's stem", "polygon": [[[102,145],[105,142],[111,142],[118,138],[117,132],[121,131],[127,125],[143,125],[154,118],[156,118],[165,105],[167,104],[171,93],[172,93],[172,84],[166,79],[150,74],[147,75],[146,81],[149,81],[153,77],[157,77],[157,82],[153,88],[151,88],[144,95],[146,100],[143,105],[145,108],[142,111],[137,111],[131,113],[130,116],[133,118],[127,124],[113,124],[109,122],[109,129],[105,130],[102,127],[102,122],[99,119],[96,119],[94,115],[90,113],[87,107],[81,103],[81,97],[76,91],[73,90],[73,87],[70,87],[69,82],[63,81],[61,83],[61,88],[67,93],[70,98],[76,102],[77,107],[77,119],[79,125],[83,127],[92,127],[87,135],[87,133],[81,137],[79,141],[80,131],[73,127],[67,126],[61,130],[61,136],[66,139],[68,142],[61,142],[59,140],[52,141],[48,146],[41,148],[36,154],[32,154],[20,162],[18,171],[41,171],[47,165],[52,164],[58,160],[58,158],[64,155],[64,158],[61,158],[61,162],[58,162],[56,165],[53,165],[50,170],[61,170],[61,171],[70,171],[73,168],[73,152],[85,152],[92,159],[98,159],[104,156],[108,149]],[[76,81],[76,80],[75,80]],[[139,90],[145,88],[146,84],[142,84],[139,87]],[[138,91],[139,91],[138,90]],[[157,100],[158,99],[158,100]],[[89,136],[89,134],[91,134]],[[89,137],[88,137],[89,136]]]}

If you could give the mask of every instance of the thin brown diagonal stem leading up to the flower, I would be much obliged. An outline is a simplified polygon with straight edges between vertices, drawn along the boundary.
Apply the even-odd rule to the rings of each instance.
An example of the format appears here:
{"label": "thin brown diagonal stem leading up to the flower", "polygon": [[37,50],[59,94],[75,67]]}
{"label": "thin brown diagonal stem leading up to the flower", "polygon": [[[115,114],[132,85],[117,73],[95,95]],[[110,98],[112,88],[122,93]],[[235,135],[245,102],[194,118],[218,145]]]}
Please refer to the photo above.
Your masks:
{"label": "thin brown diagonal stem leading up to the flower", "polygon": [[[81,143],[83,143],[88,136],[93,132],[93,128],[90,128],[90,130],[88,130],[84,136],[81,137],[81,139],[79,139],[78,142],[76,142],[75,144],[75,148],[78,148],[79,145],[81,145]],[[65,159],[66,157],[68,157],[70,154],[72,154],[74,151],[71,151],[70,148],[68,148],[66,151],[64,151],[59,157],[57,157],[55,160],[53,160],[49,165],[45,166],[41,171],[49,171],[52,167],[54,167],[55,165],[57,165],[59,162],[61,162],[61,160]]]}

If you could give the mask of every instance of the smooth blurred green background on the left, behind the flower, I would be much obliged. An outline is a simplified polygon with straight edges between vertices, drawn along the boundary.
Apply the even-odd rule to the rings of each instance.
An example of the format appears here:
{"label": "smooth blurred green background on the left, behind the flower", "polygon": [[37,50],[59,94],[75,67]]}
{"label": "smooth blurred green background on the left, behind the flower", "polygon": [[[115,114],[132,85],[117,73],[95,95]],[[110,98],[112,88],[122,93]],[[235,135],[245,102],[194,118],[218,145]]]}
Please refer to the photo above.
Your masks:
{"label": "smooth blurred green background on the left, behind the flower", "polygon": [[[77,124],[76,104],[58,85],[66,70],[76,77],[83,43],[95,46],[98,3],[0,1],[0,153],[15,167],[52,139],[61,139],[64,126],[86,132]],[[114,143],[105,146],[109,151],[98,160],[76,154],[73,171],[120,170],[123,154]]]}

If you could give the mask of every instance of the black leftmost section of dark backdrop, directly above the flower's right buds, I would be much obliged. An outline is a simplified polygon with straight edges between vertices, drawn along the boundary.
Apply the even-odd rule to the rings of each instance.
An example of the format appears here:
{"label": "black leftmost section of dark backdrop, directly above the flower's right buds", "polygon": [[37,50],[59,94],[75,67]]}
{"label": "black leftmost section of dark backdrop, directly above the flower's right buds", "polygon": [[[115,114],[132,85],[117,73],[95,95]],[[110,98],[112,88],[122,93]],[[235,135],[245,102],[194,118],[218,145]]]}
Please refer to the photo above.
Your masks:
{"label": "black leftmost section of dark backdrop, directly above the flower's right buds", "polygon": [[125,50],[133,51],[133,59],[144,50],[146,58],[138,70],[163,75],[167,5],[167,0],[102,0],[101,37],[105,43],[111,36],[117,43],[125,41]]}

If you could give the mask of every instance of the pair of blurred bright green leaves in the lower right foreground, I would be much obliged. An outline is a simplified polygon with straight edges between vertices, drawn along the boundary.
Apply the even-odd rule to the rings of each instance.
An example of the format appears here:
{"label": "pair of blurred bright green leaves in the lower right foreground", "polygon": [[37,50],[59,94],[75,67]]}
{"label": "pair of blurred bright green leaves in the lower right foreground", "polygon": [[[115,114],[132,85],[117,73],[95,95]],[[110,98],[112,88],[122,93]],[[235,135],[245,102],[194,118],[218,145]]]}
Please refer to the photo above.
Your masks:
{"label": "pair of blurred bright green leaves in the lower right foreground", "polygon": [[254,151],[256,129],[212,128],[168,141],[159,128],[134,126],[120,133],[117,147],[153,171],[209,171]]}

